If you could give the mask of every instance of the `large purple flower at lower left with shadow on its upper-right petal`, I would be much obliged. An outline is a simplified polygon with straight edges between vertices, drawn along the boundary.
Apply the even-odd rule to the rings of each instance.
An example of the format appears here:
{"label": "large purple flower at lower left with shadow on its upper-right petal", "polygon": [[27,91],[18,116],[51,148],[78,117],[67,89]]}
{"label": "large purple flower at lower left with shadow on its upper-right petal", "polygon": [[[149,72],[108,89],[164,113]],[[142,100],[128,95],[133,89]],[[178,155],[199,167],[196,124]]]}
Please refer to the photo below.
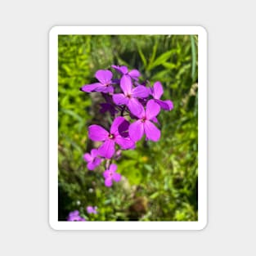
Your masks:
{"label": "large purple flower at lower left with shadow on its upper-right petal", "polygon": [[[115,154],[115,143],[122,149],[134,148],[135,144],[130,137],[125,137],[125,129],[128,130],[129,123],[124,117],[117,117],[111,125],[110,132],[97,124],[89,126],[89,137],[92,141],[103,141],[98,149],[99,155],[110,159]],[[122,136],[123,135],[123,136]]]}

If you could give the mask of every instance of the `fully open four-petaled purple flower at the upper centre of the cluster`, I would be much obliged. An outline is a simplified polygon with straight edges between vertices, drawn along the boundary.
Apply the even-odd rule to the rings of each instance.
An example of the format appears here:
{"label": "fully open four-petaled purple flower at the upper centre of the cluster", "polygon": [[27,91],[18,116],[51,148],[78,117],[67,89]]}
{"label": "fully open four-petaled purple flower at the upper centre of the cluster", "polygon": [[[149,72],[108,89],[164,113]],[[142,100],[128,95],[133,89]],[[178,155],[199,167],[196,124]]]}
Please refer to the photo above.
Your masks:
{"label": "fully open four-petaled purple flower at the upper centre of the cluster", "polygon": [[115,104],[128,106],[128,109],[133,115],[140,115],[143,106],[137,100],[137,97],[148,97],[150,94],[149,89],[142,85],[137,86],[137,88],[132,88],[132,79],[129,76],[122,77],[120,87],[124,93],[113,95]]}

